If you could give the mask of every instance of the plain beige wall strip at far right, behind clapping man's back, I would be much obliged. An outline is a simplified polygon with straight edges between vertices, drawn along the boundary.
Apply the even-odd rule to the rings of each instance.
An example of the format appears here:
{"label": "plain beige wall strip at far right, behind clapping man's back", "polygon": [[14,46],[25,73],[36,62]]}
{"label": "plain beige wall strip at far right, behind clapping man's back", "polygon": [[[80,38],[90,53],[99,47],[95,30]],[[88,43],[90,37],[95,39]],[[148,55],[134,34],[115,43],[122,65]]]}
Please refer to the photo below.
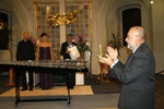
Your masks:
{"label": "plain beige wall strip at far right, behind clapping man's back", "polygon": [[156,72],[164,70],[164,0],[154,0],[152,4],[153,51]]}

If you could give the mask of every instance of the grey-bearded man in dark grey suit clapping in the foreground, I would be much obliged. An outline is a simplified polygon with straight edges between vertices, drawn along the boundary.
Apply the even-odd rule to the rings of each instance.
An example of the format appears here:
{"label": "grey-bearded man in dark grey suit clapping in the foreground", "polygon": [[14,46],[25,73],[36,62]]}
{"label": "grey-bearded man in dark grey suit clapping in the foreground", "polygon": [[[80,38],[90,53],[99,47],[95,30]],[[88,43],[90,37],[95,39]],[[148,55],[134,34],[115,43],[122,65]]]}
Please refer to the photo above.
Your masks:
{"label": "grey-bearded man in dark grey suit clapping in the foreground", "polygon": [[126,64],[121,63],[117,50],[107,47],[107,58],[98,56],[99,61],[110,65],[110,75],[122,86],[119,109],[154,109],[155,60],[145,44],[144,29],[133,26],[126,38],[132,50]]}

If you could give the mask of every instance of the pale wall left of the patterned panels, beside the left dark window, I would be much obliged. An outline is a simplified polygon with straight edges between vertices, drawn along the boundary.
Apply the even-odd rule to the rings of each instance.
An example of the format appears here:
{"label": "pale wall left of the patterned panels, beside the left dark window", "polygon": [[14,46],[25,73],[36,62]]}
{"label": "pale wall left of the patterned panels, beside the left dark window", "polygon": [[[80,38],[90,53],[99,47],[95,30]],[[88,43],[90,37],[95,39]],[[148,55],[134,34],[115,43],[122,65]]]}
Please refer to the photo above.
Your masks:
{"label": "pale wall left of the patterned panels, beside the left dark window", "polygon": [[[12,59],[15,60],[15,51],[17,41],[22,39],[22,33],[24,31],[32,32],[33,25],[31,25],[32,21],[30,20],[30,14],[27,13],[28,10],[25,9],[24,2],[17,0],[16,2],[13,0],[1,0],[0,5],[2,10],[8,10],[12,13],[11,21],[12,21],[12,29],[13,29],[13,48],[12,48]],[[27,5],[32,7],[33,2]],[[2,52],[2,51],[1,51]],[[7,53],[7,52],[5,52]],[[3,58],[3,56],[0,55]],[[4,59],[10,59],[10,55],[5,55]]]}

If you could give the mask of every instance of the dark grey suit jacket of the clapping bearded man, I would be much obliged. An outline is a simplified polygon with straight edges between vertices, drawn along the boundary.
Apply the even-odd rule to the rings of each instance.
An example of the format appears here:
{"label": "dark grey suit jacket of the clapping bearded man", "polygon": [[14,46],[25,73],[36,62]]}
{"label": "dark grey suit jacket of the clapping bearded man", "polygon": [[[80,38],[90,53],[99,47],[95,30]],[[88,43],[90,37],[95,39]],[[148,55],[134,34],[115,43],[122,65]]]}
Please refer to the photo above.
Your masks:
{"label": "dark grey suit jacket of the clapping bearded man", "polygon": [[142,44],[126,64],[116,63],[110,75],[122,86],[119,109],[154,109],[155,60],[145,44]]}

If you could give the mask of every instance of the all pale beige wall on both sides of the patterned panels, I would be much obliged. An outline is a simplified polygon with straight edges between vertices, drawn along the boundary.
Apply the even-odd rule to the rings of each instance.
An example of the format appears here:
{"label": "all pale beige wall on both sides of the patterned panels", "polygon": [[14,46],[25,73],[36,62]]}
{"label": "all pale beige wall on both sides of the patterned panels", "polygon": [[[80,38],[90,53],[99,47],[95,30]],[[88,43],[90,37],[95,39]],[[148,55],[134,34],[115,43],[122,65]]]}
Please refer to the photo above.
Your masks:
{"label": "all pale beige wall on both sides of the patterned panels", "polygon": [[[22,33],[28,31],[35,33],[35,10],[34,0],[1,0],[0,9],[12,12],[12,26],[14,31],[15,44],[22,39]],[[38,1],[38,0],[37,0]],[[39,0],[45,2],[55,2],[58,0]],[[69,0],[70,1],[70,0]],[[93,1],[93,48],[92,48],[92,73],[99,73],[97,60],[98,45],[103,46],[105,53],[107,37],[110,33],[117,34],[120,31],[120,20],[118,19],[117,9],[126,5],[139,4],[141,7],[142,25],[147,31],[148,45],[153,50],[156,61],[156,72],[162,71],[164,62],[164,0],[154,0],[150,5],[150,0],[92,0]],[[152,10],[151,10],[152,9]],[[15,47],[13,49],[15,55]],[[121,50],[121,61],[127,59],[127,49]],[[15,57],[15,56],[13,56]]]}

